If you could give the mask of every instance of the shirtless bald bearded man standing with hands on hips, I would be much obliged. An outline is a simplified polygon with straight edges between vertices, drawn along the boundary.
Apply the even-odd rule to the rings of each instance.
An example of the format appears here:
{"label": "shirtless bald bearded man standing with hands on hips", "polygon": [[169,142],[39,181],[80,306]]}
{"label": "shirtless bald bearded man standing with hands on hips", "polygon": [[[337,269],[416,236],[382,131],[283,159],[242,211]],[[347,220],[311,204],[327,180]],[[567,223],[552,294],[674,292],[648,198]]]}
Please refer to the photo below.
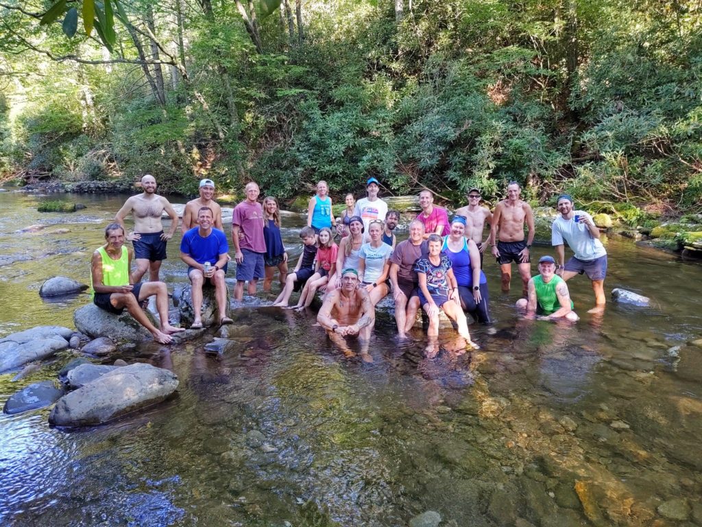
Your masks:
{"label": "shirtless bald bearded man standing with hands on hips", "polygon": [[[136,257],[134,282],[140,282],[147,270],[149,280],[158,282],[161,261],[166,259],[166,242],[173,238],[178,230],[178,213],[165,197],[156,193],[154,176],[146,174],[141,178],[141,187],[144,192],[126,200],[117,216],[114,216],[114,221],[124,228],[126,216],[131,212],[134,217],[134,232],[127,235],[127,240],[131,240],[134,245]],[[164,210],[171,216],[171,230],[168,233],[164,233],[164,226],[161,224],[161,214]]]}

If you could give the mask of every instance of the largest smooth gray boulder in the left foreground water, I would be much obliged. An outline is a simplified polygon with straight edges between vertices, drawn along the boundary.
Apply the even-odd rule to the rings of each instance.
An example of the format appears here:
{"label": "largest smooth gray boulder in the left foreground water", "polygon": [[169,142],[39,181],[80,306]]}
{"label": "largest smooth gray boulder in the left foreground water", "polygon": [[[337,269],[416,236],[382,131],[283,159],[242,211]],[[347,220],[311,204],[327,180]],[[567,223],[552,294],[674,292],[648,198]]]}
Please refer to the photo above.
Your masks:
{"label": "largest smooth gray boulder in the left foreground water", "polygon": [[178,377],[169,370],[142,363],[117,367],[60,398],[48,422],[57,427],[102,424],[160,403],[176,388]]}

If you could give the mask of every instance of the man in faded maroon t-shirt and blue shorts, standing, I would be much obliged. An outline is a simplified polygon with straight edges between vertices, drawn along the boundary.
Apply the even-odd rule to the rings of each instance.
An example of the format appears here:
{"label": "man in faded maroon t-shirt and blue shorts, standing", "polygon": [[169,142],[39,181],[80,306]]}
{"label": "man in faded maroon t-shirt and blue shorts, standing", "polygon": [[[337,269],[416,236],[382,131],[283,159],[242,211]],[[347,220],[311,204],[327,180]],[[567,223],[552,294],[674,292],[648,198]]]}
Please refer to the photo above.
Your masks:
{"label": "man in faded maroon t-shirt and blue shorts, standing", "polygon": [[263,238],[263,208],[257,201],[258,185],[246,185],[246,200],[234,207],[232,214],[232,242],[237,261],[237,285],[234,286],[234,299],[244,297],[244,282],[249,282],[249,294],[256,294],[258,279],[263,278],[265,239]]}

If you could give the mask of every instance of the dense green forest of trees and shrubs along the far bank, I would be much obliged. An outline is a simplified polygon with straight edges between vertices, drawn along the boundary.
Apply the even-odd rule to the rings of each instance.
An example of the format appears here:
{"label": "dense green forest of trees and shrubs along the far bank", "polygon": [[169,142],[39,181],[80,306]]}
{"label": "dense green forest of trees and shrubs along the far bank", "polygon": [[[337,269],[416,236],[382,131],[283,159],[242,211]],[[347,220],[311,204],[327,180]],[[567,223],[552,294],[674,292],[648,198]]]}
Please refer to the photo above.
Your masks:
{"label": "dense green forest of trees and shrubs along the far bank", "polygon": [[187,194],[253,179],[282,199],[376,176],[460,203],[515,179],[538,202],[701,212],[701,15],[702,0],[0,0],[0,173],[151,173]]}

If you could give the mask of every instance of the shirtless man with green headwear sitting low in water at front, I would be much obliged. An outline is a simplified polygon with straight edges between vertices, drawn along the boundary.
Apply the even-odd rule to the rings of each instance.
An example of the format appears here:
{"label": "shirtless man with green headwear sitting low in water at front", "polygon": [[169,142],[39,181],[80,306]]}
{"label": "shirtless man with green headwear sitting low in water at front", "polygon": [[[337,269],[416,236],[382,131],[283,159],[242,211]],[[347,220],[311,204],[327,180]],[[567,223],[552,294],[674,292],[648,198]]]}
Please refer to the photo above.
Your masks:
{"label": "shirtless man with green headwear sitting low in water at front", "polygon": [[324,297],[317,322],[326,334],[339,346],[345,356],[352,357],[344,337],[359,336],[362,343],[363,360],[371,360],[368,354],[369,339],[376,322],[376,311],[365,289],[358,289],[358,271],[344,269],[341,273],[341,288],[333,289]]}

